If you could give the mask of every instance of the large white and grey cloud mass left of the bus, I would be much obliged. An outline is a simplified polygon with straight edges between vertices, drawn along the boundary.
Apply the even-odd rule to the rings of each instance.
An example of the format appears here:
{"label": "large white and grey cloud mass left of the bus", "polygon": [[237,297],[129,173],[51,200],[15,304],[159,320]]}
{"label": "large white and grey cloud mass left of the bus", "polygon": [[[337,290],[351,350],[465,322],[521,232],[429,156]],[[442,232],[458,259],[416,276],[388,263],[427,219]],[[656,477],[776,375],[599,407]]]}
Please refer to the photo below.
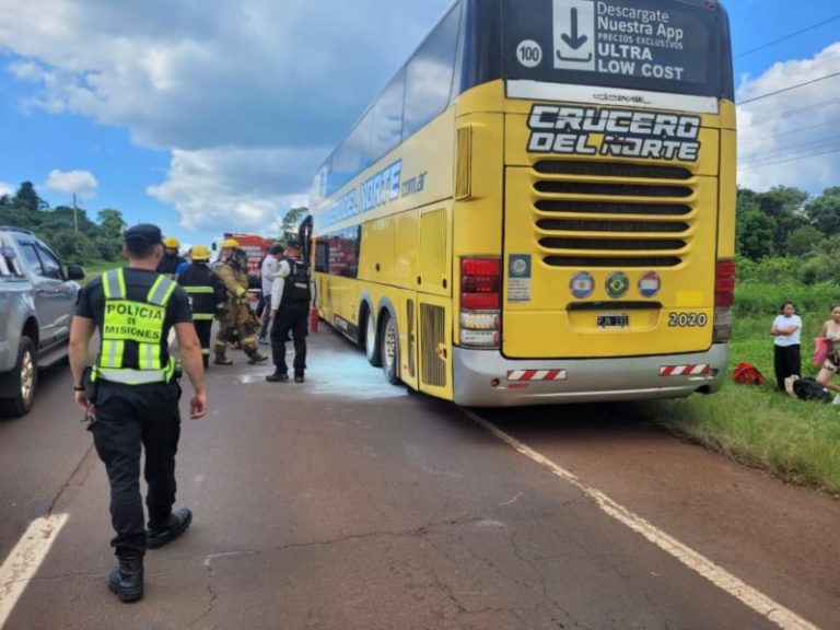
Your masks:
{"label": "large white and grey cloud mass left of the bus", "polygon": [[[25,103],[172,151],[188,228],[271,221],[451,0],[0,0]],[[212,194],[210,192],[212,191]]]}

